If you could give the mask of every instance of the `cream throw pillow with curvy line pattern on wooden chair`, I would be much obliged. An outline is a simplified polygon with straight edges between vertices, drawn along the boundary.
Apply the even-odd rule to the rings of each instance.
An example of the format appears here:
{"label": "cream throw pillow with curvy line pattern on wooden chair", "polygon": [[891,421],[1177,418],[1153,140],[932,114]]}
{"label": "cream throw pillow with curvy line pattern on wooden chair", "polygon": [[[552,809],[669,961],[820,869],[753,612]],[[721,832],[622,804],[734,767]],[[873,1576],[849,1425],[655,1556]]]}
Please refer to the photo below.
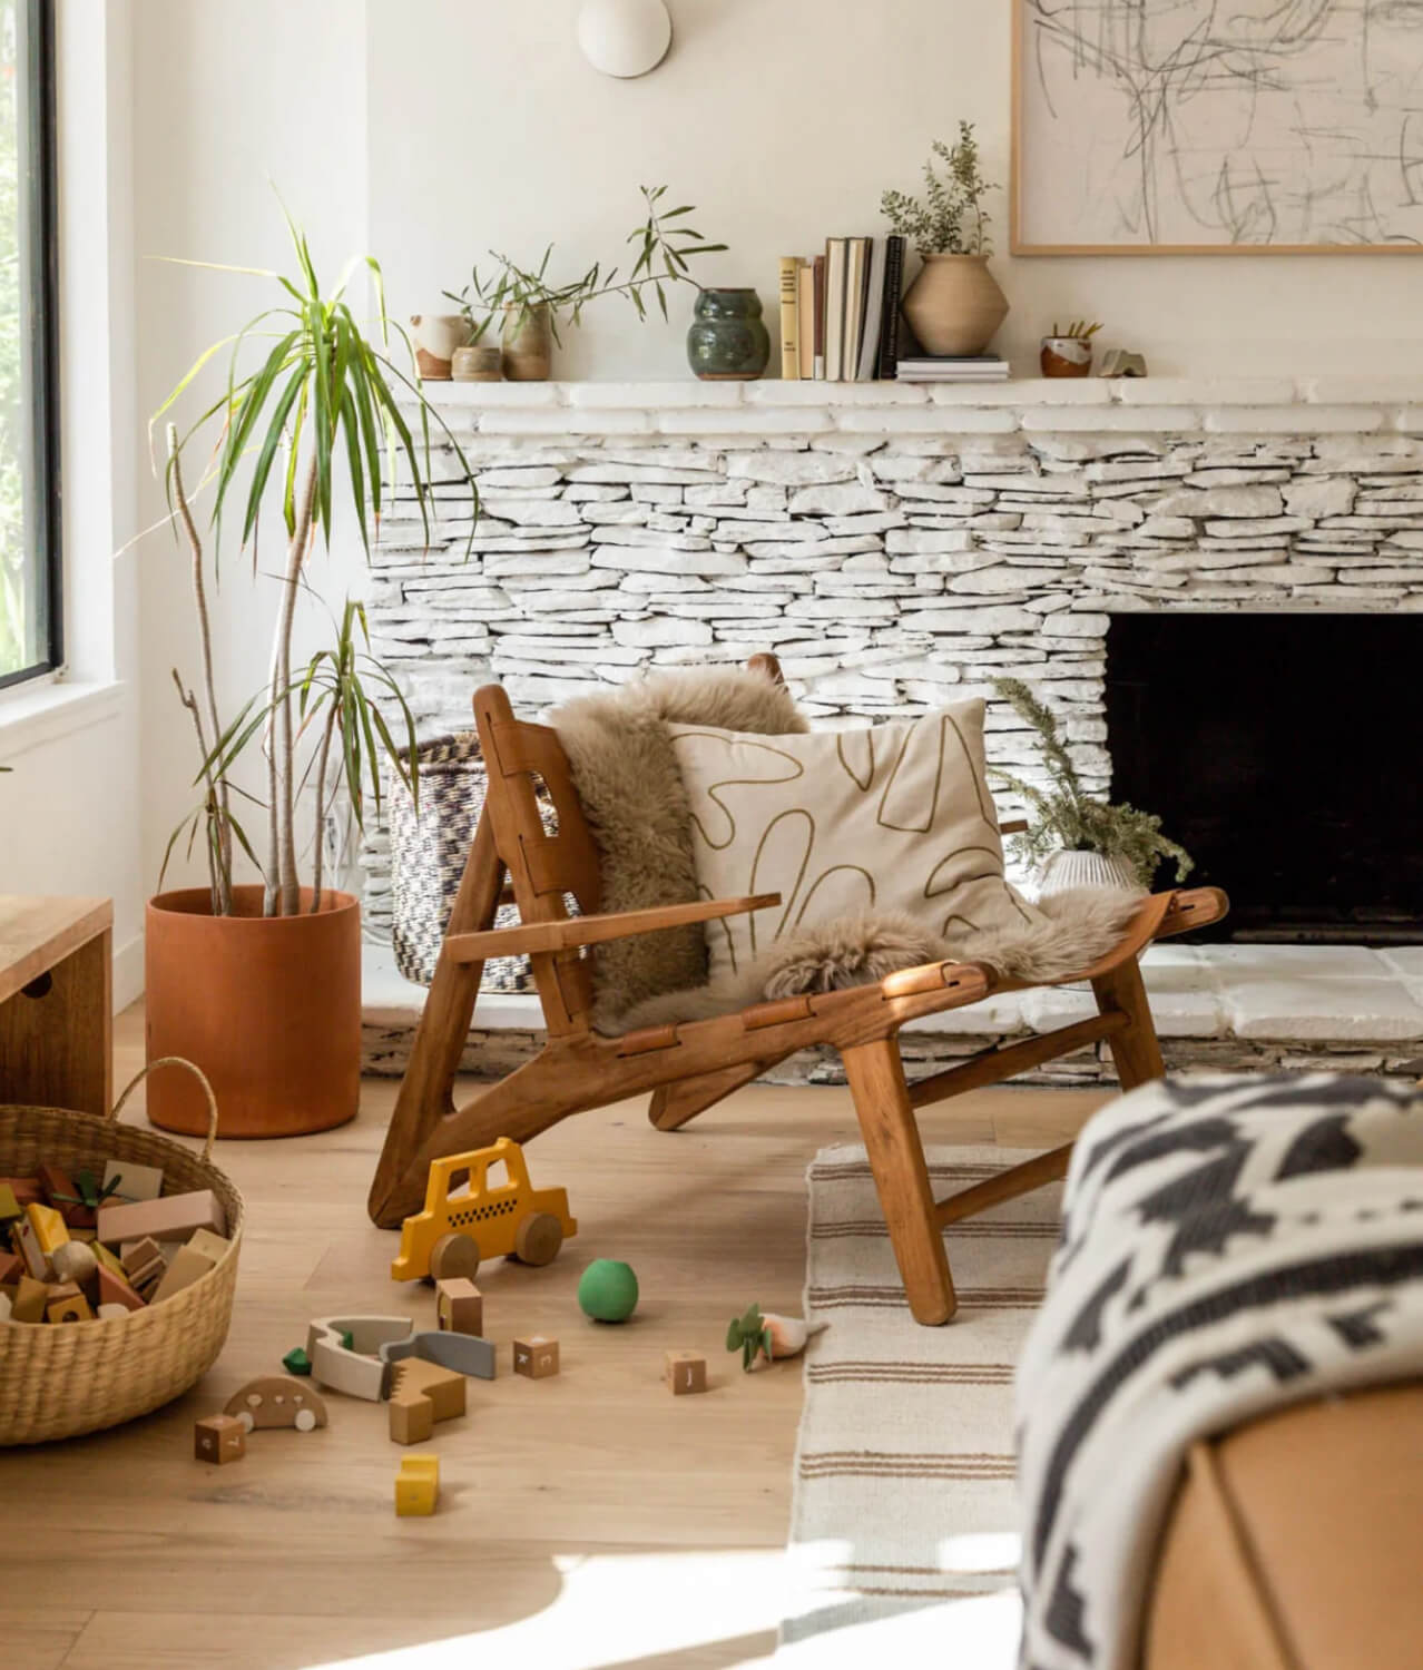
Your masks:
{"label": "cream throw pillow with curvy line pattern on wooden chair", "polygon": [[865,910],[902,910],[950,942],[1037,920],[1004,880],[982,701],[798,736],[668,730],[701,897],[782,895],[706,924],[713,980],[790,930]]}

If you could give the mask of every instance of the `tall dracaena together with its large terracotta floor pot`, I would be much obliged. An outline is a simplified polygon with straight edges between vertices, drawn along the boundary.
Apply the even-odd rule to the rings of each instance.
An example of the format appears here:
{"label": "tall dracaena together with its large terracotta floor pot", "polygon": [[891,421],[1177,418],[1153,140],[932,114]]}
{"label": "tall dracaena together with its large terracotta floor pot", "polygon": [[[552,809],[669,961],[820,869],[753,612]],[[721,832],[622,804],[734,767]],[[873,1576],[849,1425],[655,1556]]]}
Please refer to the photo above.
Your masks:
{"label": "tall dracaena together with its large terracotta floor pot", "polygon": [[[356,823],[367,795],[379,803],[381,755],[401,773],[404,762],[414,760],[409,708],[369,653],[361,605],[346,605],[329,648],[304,666],[294,665],[294,625],[302,598],[309,600],[311,553],[317,539],[331,543],[339,511],[369,556],[396,468],[413,483],[428,533],[431,418],[454,446],[471,493],[474,486],[463,451],[419,392],[403,332],[409,371],[392,357],[379,266],[369,257],[364,262],[376,292],[367,336],[346,301],[346,279],[356,264],[334,291],[322,292],[304,235],[287,224],[296,276],[257,274],[279,287],[272,306],[209,347],[154,419],[167,418],[209,367],[217,371],[212,362],[227,349],[227,364],[214,376],[214,397],[197,421],[182,438],[174,423],[165,429],[165,488],[172,524],[190,554],[202,673],[194,688],[174,670],[195,735],[199,802],[174,832],[164,870],[179,842],[185,838],[190,852],[200,840],[209,880],[207,887],[159,892],[149,902],[145,934],[149,1059],[184,1055],[202,1067],[217,1092],[224,1136],[291,1136],[354,1116],[361,910],[352,895],[326,883],[322,837],[337,795]],[[262,356],[249,367],[249,351],[257,346]],[[408,418],[403,402],[418,418]],[[230,716],[217,695],[204,541],[184,478],[194,448],[207,461],[199,489],[214,488],[214,564],[224,526],[241,526],[241,544],[256,561],[264,508],[279,506],[282,516],[271,676]],[[396,745],[376,696],[404,731],[404,748]],[[262,752],[261,798],[234,777],[254,745]],[[266,818],[261,858],[246,828],[254,798]],[[309,883],[301,875],[307,842],[299,818],[311,833]],[[261,883],[235,880],[239,852]],[[149,1116],[169,1131],[204,1131],[200,1104],[200,1094],[190,1094],[177,1074],[160,1075],[149,1089]]]}

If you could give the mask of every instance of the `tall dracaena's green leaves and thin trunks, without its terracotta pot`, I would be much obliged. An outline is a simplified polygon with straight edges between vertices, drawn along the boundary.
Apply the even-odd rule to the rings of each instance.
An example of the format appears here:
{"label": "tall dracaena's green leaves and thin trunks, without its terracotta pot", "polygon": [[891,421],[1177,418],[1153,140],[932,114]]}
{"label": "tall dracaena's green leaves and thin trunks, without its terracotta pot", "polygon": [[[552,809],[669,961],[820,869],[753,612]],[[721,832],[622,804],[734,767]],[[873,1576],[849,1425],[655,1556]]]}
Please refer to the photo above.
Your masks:
{"label": "tall dracaena's green leaves and thin trunks, without its terracotta pot", "polygon": [[[376,807],[381,802],[381,757],[418,792],[414,721],[394,680],[369,653],[364,610],[347,603],[331,648],[321,650],[304,668],[292,666],[297,603],[309,591],[306,569],[316,541],[331,544],[341,511],[369,559],[372,539],[379,538],[387,483],[398,469],[409,476],[429,538],[434,514],[431,421],[454,449],[478,516],[469,463],[421,394],[409,339],[386,312],[379,264],[369,256],[352,261],[336,287],[324,291],[304,234],[291,217],[287,227],[296,276],[235,269],[276,286],[274,306],[205,349],[154,416],[157,424],[174,411],[199,379],[217,371],[225,351],[225,376],[219,374],[215,399],[185,433],[167,423],[164,471],[169,509],[190,553],[202,656],[197,690],[174,671],[197,736],[200,767],[194,782],[200,800],[174,832],[167,857],[184,835],[189,850],[202,837],[212,910],[219,915],[232,910],[234,843],[262,873],[264,913],[299,913],[296,818],[304,790],[312,793],[316,805],[312,910],[321,908],[322,827],[334,793],[344,790],[359,827],[367,790]],[[361,269],[374,291],[369,329],[346,299],[349,281]],[[414,418],[408,418],[403,406]],[[184,479],[190,449],[200,449],[205,459],[202,486],[212,488],[214,571],[224,529],[232,521],[241,523],[241,546],[256,569],[262,511],[271,501],[282,516],[286,548],[271,675],[266,686],[225,721],[214,678],[204,541]],[[396,745],[381,703],[404,733],[404,748]],[[261,860],[234,810],[235,798],[254,798],[232,780],[239,757],[254,740],[261,740],[266,757],[266,800],[256,802],[267,823]]]}

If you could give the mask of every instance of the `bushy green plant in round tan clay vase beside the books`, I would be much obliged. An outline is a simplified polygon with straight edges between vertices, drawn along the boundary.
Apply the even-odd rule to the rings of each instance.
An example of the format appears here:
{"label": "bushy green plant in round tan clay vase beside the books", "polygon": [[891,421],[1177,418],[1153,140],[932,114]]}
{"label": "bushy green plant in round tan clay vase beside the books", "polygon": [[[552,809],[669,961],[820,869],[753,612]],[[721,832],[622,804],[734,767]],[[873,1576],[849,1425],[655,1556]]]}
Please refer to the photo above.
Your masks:
{"label": "bushy green plant in round tan clay vase beside the books", "polygon": [[[935,172],[935,159],[944,174]],[[1007,317],[1007,297],[989,272],[989,214],[997,187],[979,167],[974,124],[959,124],[959,144],[934,140],[924,164],[924,199],[885,192],[880,210],[924,259],[904,294],[904,316],[930,354],[982,354]]]}

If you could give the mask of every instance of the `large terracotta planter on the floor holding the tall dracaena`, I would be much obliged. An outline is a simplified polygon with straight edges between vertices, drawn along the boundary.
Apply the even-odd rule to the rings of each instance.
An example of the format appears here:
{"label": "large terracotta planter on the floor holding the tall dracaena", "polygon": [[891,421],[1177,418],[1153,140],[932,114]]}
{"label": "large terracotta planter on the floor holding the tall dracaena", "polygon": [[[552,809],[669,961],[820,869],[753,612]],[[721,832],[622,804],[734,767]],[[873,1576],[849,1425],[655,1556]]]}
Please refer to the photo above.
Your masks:
{"label": "large terracotta planter on the floor holding the tall dracaena", "polygon": [[[214,917],[205,887],[149,900],[149,1060],[184,1055],[212,1080],[217,1134],[294,1137],[356,1117],[361,1099],[361,903],[326,892],[309,913],[262,917],[262,888],[235,887]],[[207,1131],[189,1074],[154,1074],[149,1119]]]}

